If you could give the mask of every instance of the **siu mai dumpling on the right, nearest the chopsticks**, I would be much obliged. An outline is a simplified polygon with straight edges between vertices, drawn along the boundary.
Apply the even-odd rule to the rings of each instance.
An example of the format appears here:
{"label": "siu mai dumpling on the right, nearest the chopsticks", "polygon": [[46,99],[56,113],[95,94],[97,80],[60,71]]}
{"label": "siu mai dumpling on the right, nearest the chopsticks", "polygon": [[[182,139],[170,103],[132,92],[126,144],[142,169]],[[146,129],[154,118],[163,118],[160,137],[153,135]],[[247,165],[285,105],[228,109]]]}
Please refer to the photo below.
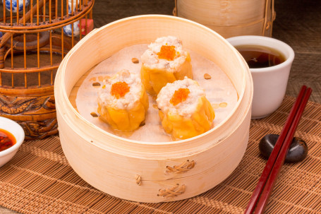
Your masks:
{"label": "siu mai dumpling on the right, nearest the chopsticks", "polygon": [[205,91],[190,78],[164,86],[157,95],[157,106],[164,130],[175,139],[205,133],[215,117]]}

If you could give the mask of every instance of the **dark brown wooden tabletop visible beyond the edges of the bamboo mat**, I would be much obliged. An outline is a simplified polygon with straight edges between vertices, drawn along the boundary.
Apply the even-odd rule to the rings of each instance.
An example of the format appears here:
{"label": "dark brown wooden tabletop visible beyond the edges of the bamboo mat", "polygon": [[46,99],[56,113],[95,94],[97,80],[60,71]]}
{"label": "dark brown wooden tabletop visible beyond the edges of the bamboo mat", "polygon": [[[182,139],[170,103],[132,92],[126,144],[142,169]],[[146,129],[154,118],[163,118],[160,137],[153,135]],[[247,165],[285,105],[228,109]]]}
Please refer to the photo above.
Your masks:
{"label": "dark brown wooden tabletop visible beyond the edges of the bamboo mat", "polygon": [[[111,21],[141,14],[171,15],[174,0],[95,1],[95,28]],[[310,101],[321,103],[321,1],[283,0],[275,2],[277,18],[272,37],[289,44],[296,54],[286,95],[296,97],[301,85],[313,89]],[[1,214],[16,213],[0,207]]]}

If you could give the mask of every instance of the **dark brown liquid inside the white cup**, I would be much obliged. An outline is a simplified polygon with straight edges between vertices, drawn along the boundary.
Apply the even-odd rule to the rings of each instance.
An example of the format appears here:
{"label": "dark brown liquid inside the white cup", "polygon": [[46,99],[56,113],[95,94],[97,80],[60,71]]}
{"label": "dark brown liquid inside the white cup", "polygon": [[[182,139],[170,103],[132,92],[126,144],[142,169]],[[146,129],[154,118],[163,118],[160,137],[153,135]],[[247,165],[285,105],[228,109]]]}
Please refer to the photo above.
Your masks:
{"label": "dark brown liquid inside the white cup", "polygon": [[261,69],[281,64],[286,59],[276,49],[259,45],[239,45],[235,47],[250,69]]}

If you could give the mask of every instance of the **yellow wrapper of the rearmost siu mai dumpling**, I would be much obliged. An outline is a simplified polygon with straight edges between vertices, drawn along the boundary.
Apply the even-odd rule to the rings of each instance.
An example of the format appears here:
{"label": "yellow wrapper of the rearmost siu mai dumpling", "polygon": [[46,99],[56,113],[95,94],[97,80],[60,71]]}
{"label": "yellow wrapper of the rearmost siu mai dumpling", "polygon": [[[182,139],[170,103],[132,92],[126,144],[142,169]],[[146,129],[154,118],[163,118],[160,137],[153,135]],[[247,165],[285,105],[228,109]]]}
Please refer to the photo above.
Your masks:
{"label": "yellow wrapper of the rearmost siu mai dumpling", "polygon": [[167,69],[150,69],[150,67],[145,66],[145,64],[142,64],[142,68],[140,69],[142,83],[150,95],[157,95],[167,83],[183,80],[185,76],[188,78],[193,77],[190,54],[187,54],[186,61],[174,72],[168,71]]}

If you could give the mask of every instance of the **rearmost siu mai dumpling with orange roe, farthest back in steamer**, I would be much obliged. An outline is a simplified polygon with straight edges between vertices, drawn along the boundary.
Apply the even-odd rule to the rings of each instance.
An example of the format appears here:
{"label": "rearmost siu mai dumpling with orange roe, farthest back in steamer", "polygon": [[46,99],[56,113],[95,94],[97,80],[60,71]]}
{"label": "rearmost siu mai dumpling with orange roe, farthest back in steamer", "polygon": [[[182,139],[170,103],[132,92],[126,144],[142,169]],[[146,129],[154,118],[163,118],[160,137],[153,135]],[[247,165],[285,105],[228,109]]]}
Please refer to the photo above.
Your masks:
{"label": "rearmost siu mai dumpling with orange roe, farthest back in steamer", "polygon": [[192,78],[190,54],[177,37],[159,37],[141,57],[140,77],[147,93],[157,95],[166,83]]}

